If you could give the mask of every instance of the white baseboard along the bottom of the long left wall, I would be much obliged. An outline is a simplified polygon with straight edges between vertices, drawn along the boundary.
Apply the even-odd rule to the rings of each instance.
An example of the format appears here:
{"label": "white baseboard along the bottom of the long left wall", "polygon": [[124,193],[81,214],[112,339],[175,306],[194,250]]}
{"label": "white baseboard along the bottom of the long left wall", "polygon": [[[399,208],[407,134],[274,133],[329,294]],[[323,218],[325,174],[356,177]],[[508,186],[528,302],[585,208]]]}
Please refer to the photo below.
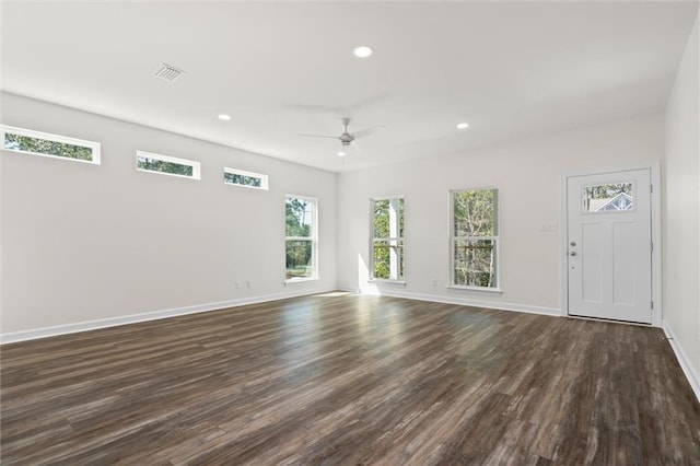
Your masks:
{"label": "white baseboard along the bottom of the long left wall", "polygon": [[299,290],[279,294],[268,294],[264,296],[244,298],[240,300],[221,301],[218,303],[197,304],[192,306],[176,307],[171,310],[153,311],[141,314],[131,314],[119,317],[101,318],[97,321],[78,322],[75,324],[57,325],[52,327],[34,328],[31,330],[13,331],[0,334],[0,345],[14,343],[18,341],[35,340],[37,338],[56,337],[59,335],[77,334],[79,331],[96,330],[100,328],[116,327],[118,325],[136,324],[138,322],[156,321],[160,318],[175,317],[186,314],[198,314],[201,312],[219,311],[226,307],[237,307],[246,304],[266,303],[269,301],[284,300],[312,294],[337,291],[336,288],[324,290]]}

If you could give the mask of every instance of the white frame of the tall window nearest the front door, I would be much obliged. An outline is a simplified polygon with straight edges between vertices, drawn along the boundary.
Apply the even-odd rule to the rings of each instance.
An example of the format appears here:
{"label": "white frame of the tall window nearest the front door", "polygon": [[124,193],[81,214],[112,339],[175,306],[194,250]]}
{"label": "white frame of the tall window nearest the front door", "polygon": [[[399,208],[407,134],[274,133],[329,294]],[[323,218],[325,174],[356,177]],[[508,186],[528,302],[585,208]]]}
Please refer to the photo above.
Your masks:
{"label": "white frame of the tall window nearest the front door", "polygon": [[[456,236],[455,235],[455,194],[465,191],[480,191],[480,190],[495,190],[495,205],[494,205],[494,218],[495,234],[491,236]],[[450,284],[447,288],[455,290],[479,291],[487,293],[502,293],[501,289],[501,209],[500,209],[500,195],[499,188],[495,186],[479,186],[463,189],[450,190]],[[493,244],[493,251],[495,255],[495,282],[494,287],[477,287],[471,284],[457,284],[455,283],[455,245],[458,241],[491,241]]]}

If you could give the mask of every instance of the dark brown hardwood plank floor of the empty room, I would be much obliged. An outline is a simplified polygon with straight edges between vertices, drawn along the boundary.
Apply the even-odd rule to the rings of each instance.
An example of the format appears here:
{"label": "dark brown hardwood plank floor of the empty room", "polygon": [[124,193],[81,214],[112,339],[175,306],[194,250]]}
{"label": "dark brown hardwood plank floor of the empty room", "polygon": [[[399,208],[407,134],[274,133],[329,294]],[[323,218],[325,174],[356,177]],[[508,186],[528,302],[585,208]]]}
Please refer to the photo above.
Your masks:
{"label": "dark brown hardwood plank floor of the empty room", "polygon": [[1,351],[3,465],[700,464],[656,328],[308,296]]}

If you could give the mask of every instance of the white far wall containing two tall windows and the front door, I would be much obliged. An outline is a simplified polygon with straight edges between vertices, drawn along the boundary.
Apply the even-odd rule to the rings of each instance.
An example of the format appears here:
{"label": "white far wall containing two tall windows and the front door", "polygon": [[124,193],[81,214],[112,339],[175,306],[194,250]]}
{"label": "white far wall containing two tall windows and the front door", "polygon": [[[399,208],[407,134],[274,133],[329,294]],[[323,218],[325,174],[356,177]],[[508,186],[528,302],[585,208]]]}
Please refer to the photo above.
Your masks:
{"label": "white far wall containing two tall windows and the front door", "polygon": [[[341,174],[339,284],[365,292],[559,314],[563,176],[651,166],[663,155],[664,121],[662,115],[655,115]],[[445,288],[450,280],[448,190],[480,186],[499,189],[500,296]],[[369,199],[385,195],[406,197],[405,288],[368,283]],[[558,223],[559,231],[540,231],[545,222]]]}

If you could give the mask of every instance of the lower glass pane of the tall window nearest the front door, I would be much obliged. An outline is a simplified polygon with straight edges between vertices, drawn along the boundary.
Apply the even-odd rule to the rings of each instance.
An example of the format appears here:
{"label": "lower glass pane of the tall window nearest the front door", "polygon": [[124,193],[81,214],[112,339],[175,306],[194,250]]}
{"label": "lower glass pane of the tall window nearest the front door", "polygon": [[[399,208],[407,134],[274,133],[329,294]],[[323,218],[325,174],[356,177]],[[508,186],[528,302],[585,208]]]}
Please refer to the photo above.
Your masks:
{"label": "lower glass pane of the tall window nearest the front door", "polygon": [[455,240],[454,284],[495,288],[495,242]]}

